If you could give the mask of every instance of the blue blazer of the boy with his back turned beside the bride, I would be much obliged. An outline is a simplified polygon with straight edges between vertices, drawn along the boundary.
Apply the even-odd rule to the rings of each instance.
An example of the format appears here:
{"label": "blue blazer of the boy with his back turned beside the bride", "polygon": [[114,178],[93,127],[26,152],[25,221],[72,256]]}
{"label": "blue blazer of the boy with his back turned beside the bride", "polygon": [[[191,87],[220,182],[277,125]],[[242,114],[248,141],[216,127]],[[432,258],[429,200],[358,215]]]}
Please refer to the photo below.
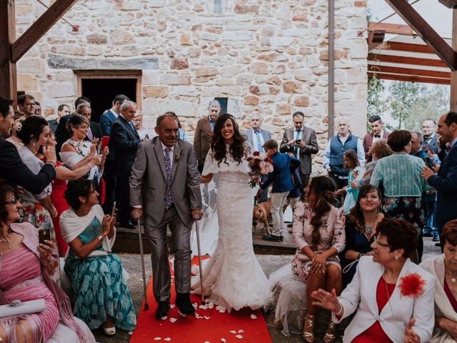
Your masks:
{"label": "blue blazer of the boy with his back turned beside the bride", "polygon": [[266,181],[261,184],[261,189],[267,189],[272,182],[273,189],[271,192],[273,193],[289,192],[294,189],[291,169],[297,169],[301,161],[287,153],[281,154],[279,151],[271,156],[271,161],[273,161],[273,172],[268,174]]}

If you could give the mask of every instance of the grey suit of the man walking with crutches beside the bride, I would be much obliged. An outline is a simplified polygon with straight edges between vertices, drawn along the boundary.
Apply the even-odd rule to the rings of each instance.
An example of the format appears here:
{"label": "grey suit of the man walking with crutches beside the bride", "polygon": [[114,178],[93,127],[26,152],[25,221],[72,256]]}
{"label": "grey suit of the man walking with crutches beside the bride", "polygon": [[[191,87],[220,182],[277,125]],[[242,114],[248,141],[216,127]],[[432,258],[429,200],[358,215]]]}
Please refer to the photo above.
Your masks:
{"label": "grey suit of the man walking with crutches beside the bride", "polygon": [[139,144],[130,176],[130,204],[143,205],[144,231],[152,245],[154,297],[157,302],[170,299],[170,269],[166,247],[166,227],[173,234],[174,272],[177,293],[191,289],[192,209],[201,209],[200,174],[194,147],[178,140],[171,168],[171,199],[165,209],[166,169],[159,137]]}

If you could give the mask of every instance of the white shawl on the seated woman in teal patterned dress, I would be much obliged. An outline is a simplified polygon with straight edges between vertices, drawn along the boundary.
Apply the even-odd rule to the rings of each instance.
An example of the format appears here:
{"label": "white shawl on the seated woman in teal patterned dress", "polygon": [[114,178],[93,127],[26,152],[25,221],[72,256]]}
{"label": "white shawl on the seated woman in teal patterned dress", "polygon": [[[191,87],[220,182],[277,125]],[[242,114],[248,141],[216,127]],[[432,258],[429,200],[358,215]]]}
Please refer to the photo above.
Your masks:
{"label": "white shawl on the seated woman in teal patterned dress", "polygon": [[[101,223],[104,215],[103,209],[101,209],[101,206],[98,204],[91,207],[89,213],[84,217],[79,217],[71,207],[62,212],[59,224],[64,241],[69,244],[75,238],[79,237],[79,235],[82,234],[87,227],[89,227],[94,218],[99,219],[99,222]],[[114,235],[111,239],[105,237],[101,243],[101,247],[104,249],[104,252],[111,252],[111,247],[113,247],[115,240],[116,229],[114,230]],[[100,256],[100,252],[94,251],[89,255],[89,257],[96,256]]]}

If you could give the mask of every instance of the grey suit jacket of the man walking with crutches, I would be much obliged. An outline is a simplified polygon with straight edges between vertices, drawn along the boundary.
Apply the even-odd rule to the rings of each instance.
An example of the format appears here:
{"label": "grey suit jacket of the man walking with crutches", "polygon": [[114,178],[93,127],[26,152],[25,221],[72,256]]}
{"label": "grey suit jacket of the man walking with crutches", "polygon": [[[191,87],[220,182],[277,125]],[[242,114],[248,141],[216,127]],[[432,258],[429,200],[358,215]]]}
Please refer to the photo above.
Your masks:
{"label": "grey suit jacket of the man walking with crutches", "polygon": [[[145,225],[159,225],[166,198],[164,150],[159,136],[139,144],[129,182],[131,206],[142,205]],[[201,209],[200,173],[194,146],[181,139],[173,151],[171,199],[184,224],[191,225],[191,210]]]}

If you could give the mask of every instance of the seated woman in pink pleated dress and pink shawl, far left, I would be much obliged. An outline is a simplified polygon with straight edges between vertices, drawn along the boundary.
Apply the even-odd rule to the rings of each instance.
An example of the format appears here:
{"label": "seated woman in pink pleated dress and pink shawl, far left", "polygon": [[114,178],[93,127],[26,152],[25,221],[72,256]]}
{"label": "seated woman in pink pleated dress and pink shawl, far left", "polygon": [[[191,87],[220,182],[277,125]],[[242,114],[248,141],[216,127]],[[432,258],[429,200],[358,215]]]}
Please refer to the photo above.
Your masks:
{"label": "seated woman in pink pleated dress and pink shawl, far left", "polygon": [[[38,229],[17,224],[21,203],[14,190],[0,184],[0,305],[44,299],[44,311],[3,317],[1,342],[84,343],[95,338],[89,328],[71,314],[69,298],[55,284],[54,243],[39,244]],[[60,322],[59,322],[60,321]]]}

